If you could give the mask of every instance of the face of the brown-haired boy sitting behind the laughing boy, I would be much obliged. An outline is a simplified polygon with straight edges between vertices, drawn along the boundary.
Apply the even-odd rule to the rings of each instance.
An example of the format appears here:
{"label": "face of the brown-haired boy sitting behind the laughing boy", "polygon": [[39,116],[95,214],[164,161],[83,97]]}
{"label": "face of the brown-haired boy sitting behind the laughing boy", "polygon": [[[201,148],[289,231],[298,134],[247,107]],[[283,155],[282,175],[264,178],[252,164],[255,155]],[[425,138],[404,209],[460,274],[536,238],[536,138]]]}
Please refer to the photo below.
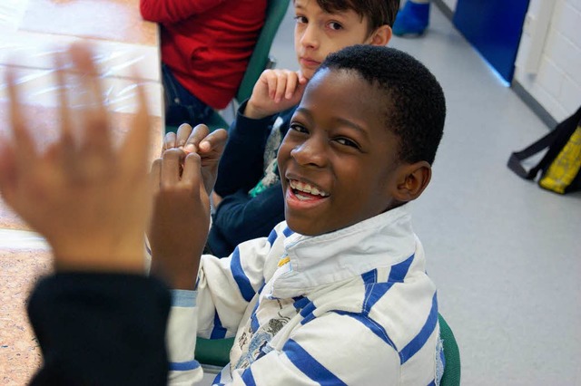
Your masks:
{"label": "face of the brown-haired boy sitting behind the laughing boy", "polygon": [[[316,0],[295,0],[294,45],[300,71],[310,79],[329,53],[348,45],[373,43],[368,20],[352,9],[325,12]],[[388,38],[389,40],[389,38]],[[385,44],[387,41],[380,41]]]}

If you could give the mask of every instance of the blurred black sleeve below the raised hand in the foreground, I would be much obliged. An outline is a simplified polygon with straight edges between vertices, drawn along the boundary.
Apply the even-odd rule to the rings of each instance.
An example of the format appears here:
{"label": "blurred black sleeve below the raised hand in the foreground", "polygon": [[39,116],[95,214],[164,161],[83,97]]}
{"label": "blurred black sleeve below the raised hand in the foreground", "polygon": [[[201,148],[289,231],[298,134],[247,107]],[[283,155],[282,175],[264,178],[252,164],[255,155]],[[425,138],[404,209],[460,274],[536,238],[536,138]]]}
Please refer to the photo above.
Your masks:
{"label": "blurred black sleeve below the raised hand in the foreground", "polygon": [[44,364],[32,385],[165,385],[168,288],[142,275],[67,273],[34,288]]}

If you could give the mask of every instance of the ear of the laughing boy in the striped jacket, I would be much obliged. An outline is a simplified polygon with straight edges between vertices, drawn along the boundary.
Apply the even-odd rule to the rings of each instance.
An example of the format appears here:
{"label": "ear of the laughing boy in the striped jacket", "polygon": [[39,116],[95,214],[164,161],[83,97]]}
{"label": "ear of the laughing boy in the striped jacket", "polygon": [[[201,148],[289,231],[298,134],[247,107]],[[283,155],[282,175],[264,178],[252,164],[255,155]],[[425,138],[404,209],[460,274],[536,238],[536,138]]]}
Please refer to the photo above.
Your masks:
{"label": "ear of the laughing boy in the striped jacket", "polygon": [[401,202],[409,202],[428,187],[432,178],[432,168],[427,161],[405,164],[399,168],[399,178],[393,197]]}

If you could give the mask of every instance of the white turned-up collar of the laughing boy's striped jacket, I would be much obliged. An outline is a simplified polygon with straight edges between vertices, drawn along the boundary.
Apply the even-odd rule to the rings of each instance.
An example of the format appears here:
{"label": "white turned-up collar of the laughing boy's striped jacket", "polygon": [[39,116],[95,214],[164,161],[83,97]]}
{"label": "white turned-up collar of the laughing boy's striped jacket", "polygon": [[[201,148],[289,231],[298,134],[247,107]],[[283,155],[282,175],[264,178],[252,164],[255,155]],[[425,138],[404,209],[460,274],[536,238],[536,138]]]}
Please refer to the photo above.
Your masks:
{"label": "white turned-up collar of the laughing boy's striped jacket", "polygon": [[413,255],[417,238],[410,204],[396,207],[351,227],[320,236],[293,234],[285,242],[289,266],[279,269],[271,285],[275,297],[296,296],[378,267],[389,267]]}

